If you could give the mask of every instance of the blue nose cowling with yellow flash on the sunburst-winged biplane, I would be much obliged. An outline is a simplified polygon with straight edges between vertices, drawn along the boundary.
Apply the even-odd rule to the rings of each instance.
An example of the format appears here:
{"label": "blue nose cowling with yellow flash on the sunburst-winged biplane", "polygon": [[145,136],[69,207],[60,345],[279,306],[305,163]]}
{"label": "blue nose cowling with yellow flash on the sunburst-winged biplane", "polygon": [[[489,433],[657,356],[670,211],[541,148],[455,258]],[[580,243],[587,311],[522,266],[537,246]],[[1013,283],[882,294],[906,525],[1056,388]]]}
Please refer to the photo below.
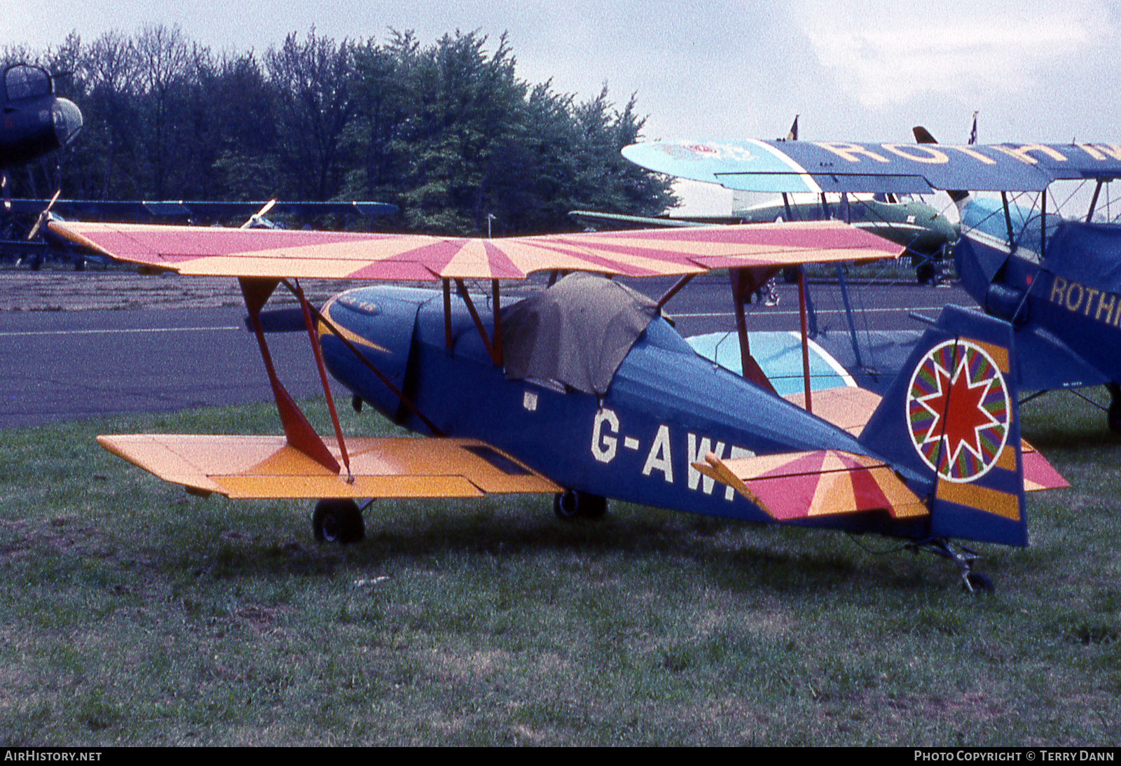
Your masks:
{"label": "blue nose cowling with yellow flash on the sunburst-winged biplane", "polygon": [[334,327],[321,323],[318,328],[327,370],[362,401],[393,421],[402,409],[400,400],[355,357],[352,348],[404,391],[417,311],[433,295],[408,288],[361,288],[335,296],[323,307],[323,315]]}

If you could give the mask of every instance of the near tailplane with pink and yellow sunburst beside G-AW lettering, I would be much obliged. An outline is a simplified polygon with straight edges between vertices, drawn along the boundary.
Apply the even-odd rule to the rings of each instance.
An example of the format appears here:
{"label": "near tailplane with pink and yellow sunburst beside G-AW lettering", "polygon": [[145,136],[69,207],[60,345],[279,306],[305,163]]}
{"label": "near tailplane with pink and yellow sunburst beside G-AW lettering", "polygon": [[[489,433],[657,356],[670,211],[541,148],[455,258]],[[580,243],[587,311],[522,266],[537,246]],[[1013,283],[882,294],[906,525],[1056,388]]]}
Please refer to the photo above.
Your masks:
{"label": "near tailplane with pink and yellow sunburst beside G-AW lettering", "polygon": [[861,511],[893,519],[923,516],[926,505],[876,458],[817,450],[722,460],[712,452],[693,467],[735,488],[778,521]]}

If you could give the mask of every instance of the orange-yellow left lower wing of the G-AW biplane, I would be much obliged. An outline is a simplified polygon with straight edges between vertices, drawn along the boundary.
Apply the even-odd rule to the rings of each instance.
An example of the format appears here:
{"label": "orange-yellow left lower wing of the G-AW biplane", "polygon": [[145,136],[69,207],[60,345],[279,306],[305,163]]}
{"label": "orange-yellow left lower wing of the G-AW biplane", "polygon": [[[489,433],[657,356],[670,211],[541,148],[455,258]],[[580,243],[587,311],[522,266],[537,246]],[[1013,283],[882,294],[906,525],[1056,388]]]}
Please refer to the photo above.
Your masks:
{"label": "orange-yellow left lower wing of the G-AW biplane", "polygon": [[[165,482],[194,494],[232,498],[480,497],[562,491],[473,439],[348,439],[353,480],[289,447],[284,437],[141,433],[101,436],[98,441]],[[341,463],[337,447],[332,454]]]}

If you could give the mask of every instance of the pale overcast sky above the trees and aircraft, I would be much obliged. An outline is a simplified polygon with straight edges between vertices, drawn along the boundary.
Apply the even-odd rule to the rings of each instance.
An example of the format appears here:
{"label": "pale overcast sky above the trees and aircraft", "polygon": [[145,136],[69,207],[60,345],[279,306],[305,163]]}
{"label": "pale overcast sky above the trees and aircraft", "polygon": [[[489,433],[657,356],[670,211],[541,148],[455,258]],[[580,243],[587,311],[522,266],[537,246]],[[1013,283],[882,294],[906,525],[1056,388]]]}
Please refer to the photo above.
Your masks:
{"label": "pale overcast sky above the trees and aircraft", "polygon": [[[299,7],[296,7],[296,6]],[[965,141],[1121,142],[1121,0],[9,0],[0,46],[41,50],[77,31],[179,25],[215,50],[263,53],[287,34],[428,44],[508,34],[518,75],[581,99],[637,94],[647,139],[908,141],[925,124]]]}

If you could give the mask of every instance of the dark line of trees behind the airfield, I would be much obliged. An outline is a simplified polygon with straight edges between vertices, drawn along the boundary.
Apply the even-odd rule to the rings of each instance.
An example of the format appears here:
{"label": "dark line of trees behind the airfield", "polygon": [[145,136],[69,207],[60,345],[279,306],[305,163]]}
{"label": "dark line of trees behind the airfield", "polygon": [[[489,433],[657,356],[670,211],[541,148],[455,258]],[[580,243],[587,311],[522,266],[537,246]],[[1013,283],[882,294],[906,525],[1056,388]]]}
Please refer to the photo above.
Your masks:
{"label": "dark line of trees behind the airfield", "polygon": [[56,188],[82,199],[371,199],[400,212],[379,227],[495,235],[572,230],[567,212],[656,215],[669,179],[619,153],[645,122],[618,109],[519,80],[504,36],[478,32],[424,46],[289,35],[263,56],[214,54],[178,27],[72,32],[39,64],[81,108],[67,150],[11,174],[13,196]]}

